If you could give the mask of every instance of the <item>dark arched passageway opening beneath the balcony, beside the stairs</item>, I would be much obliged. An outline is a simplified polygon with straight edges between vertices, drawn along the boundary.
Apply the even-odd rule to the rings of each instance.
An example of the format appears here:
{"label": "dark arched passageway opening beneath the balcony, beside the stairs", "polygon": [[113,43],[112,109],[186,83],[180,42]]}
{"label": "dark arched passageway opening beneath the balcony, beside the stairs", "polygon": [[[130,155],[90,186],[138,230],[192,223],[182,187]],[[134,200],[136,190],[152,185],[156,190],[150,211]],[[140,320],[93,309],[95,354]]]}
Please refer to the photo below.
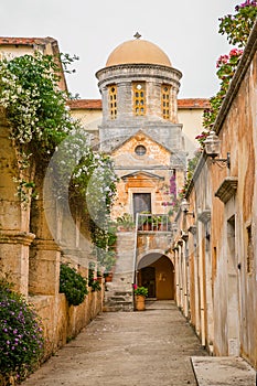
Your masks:
{"label": "dark arched passageway opening beneath the balcony, beside the stairs", "polygon": [[168,256],[143,256],[138,262],[137,275],[138,285],[148,288],[149,298],[174,299],[174,266]]}

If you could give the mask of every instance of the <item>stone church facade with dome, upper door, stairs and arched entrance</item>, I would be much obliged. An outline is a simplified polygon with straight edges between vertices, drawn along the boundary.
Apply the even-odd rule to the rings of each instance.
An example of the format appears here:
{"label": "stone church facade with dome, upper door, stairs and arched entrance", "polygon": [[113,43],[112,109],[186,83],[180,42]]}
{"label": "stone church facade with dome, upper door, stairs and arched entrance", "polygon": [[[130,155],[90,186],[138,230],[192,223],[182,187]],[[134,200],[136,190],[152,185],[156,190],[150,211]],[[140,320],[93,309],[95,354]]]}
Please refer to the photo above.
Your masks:
{"label": "stone church facade with dome, upper door, stairs and arched entrance", "polygon": [[[105,305],[130,310],[135,282],[147,287],[150,298],[174,299],[169,254],[172,213],[164,203],[175,201],[186,170],[183,126],[178,119],[182,74],[159,46],[137,36],[116,47],[96,77],[103,103],[99,149],[111,156],[119,176],[111,215],[129,215],[136,222],[136,229],[118,232],[118,260]],[[167,197],[171,180],[172,199]],[[142,221],[151,227],[146,230]]]}

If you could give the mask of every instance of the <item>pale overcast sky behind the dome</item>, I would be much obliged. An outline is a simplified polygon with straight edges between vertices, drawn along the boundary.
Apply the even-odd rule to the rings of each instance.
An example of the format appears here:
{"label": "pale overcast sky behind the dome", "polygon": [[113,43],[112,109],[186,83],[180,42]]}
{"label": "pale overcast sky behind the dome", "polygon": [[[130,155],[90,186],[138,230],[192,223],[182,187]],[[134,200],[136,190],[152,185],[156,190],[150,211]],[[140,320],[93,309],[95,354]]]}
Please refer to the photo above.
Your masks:
{"label": "pale overcast sky behind the dome", "polygon": [[120,43],[142,39],[159,45],[183,74],[180,98],[218,90],[215,63],[231,50],[217,33],[218,18],[235,0],[0,0],[1,36],[57,40],[60,51],[79,56],[67,76],[71,93],[100,98],[95,73]]}

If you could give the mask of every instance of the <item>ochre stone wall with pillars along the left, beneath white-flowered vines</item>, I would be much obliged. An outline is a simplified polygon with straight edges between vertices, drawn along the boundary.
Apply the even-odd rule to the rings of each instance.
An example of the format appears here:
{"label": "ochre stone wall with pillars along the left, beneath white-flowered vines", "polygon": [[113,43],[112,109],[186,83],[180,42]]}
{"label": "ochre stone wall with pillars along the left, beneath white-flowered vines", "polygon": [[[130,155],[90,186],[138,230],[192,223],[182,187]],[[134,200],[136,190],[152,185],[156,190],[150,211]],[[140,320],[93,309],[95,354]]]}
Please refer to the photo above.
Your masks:
{"label": "ochre stone wall with pillars along the left, beneath white-flowered vines", "polygon": [[[31,167],[23,174],[9,130],[1,109],[0,277],[12,282],[35,305],[44,326],[47,357],[101,311],[104,285],[99,292],[90,292],[89,288],[85,301],[77,307],[68,307],[65,296],[58,293],[61,261],[71,262],[87,278],[89,261],[94,261],[89,256],[89,233],[79,228],[85,227],[79,207],[72,208],[71,214],[61,210],[51,195],[44,196],[45,170],[40,160],[32,157]],[[28,203],[22,203],[13,178],[33,179],[39,197],[31,203],[29,194]]]}

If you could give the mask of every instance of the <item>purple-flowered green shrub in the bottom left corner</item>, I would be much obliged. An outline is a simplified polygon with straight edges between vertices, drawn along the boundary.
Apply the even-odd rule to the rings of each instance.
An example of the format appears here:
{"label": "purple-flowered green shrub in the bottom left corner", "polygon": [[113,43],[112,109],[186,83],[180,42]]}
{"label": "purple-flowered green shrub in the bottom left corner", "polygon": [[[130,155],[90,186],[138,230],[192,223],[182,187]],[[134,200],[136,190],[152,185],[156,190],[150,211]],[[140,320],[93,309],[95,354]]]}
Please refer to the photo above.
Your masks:
{"label": "purple-flowered green shrub in the bottom left corner", "polygon": [[25,298],[0,281],[0,374],[22,380],[43,355],[43,330]]}

